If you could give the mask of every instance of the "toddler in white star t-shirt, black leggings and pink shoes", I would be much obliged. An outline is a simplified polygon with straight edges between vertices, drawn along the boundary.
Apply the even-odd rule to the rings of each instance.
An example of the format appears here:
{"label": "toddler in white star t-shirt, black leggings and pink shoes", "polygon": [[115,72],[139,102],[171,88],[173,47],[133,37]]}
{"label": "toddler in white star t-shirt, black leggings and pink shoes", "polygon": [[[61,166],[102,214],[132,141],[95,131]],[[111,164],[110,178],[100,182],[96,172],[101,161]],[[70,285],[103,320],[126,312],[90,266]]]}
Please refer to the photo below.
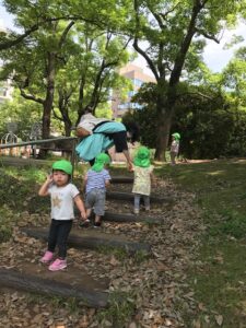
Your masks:
{"label": "toddler in white star t-shirt, black leggings and pink shoes", "polygon": [[50,271],[62,270],[67,267],[67,241],[74,219],[73,203],[80,210],[81,218],[86,220],[85,208],[80,191],[70,183],[72,164],[66,160],[52,164],[52,173],[47,176],[40,187],[39,196],[50,196],[51,223],[48,235],[48,248],[40,261],[49,263],[58,246],[58,258],[49,265]]}

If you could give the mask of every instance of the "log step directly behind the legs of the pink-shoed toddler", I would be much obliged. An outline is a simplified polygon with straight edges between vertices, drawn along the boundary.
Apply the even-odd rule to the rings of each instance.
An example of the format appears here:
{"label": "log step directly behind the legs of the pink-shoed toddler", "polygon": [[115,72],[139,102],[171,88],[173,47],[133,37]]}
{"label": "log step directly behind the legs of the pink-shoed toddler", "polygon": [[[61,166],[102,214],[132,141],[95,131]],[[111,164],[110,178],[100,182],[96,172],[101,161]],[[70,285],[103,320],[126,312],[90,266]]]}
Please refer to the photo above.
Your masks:
{"label": "log step directly behind the legs of the pink-shoed toddler", "polygon": [[[22,229],[27,236],[47,241],[48,229],[33,227]],[[98,249],[99,247],[121,248],[130,254],[136,251],[151,253],[151,246],[145,243],[128,241],[125,236],[105,234],[91,230],[72,230],[68,238],[68,245],[74,248]]]}

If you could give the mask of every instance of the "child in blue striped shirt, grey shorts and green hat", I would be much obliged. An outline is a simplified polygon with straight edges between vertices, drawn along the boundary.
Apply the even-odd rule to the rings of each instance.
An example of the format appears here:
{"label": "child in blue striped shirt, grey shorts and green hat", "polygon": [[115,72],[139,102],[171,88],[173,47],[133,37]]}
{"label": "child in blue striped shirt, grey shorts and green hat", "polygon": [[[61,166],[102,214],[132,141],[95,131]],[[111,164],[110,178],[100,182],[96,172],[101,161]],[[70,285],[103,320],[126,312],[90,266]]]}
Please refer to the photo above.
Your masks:
{"label": "child in blue striped shirt, grey shorts and green hat", "polygon": [[[110,175],[106,169],[106,165],[110,163],[110,157],[105,153],[99,153],[95,157],[94,165],[89,169],[84,177],[85,185],[85,208],[87,218],[94,209],[95,221],[94,227],[102,224],[102,216],[105,212],[106,187],[110,184]],[[86,226],[90,223],[89,219],[81,224]]]}

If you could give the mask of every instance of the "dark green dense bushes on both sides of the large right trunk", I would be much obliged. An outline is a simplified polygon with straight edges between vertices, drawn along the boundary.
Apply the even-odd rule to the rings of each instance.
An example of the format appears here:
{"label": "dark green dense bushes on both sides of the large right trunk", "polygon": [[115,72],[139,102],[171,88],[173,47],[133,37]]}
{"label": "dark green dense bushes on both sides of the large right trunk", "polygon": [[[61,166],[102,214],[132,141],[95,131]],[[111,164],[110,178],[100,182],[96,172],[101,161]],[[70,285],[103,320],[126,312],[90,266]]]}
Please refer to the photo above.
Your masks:
{"label": "dark green dense bushes on both sides of the large right trunk", "polygon": [[[160,116],[154,98],[155,84],[145,84],[133,101],[143,105],[140,110],[127,113],[122,121],[134,120],[140,126],[141,142],[150,148],[156,144]],[[214,86],[180,83],[172,131],[181,134],[180,155],[188,159],[214,159],[244,155],[246,152],[246,115],[235,112],[230,99]]]}

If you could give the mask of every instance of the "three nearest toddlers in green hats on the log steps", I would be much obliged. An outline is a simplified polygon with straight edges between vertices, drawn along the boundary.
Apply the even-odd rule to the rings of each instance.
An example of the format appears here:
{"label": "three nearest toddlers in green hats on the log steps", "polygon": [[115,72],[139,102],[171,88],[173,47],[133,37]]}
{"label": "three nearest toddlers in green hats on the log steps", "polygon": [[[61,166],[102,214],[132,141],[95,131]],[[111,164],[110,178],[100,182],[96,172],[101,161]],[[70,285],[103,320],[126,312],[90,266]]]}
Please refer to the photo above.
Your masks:
{"label": "three nearest toddlers in green hats on the log steps", "polygon": [[[85,204],[80,197],[79,189],[71,183],[72,164],[66,160],[52,164],[52,172],[47,176],[39,188],[39,196],[50,196],[51,222],[48,235],[48,246],[40,261],[49,265],[50,271],[62,270],[67,267],[67,242],[74,219],[73,204],[80,211],[83,226],[90,224],[92,210],[95,214],[94,227],[101,226],[105,211],[106,187],[110,184],[110,175],[107,166],[110,162],[106,153],[99,153],[95,163],[84,177]],[[151,153],[147,147],[140,147],[133,159],[133,188],[134,214],[139,214],[140,199],[143,197],[145,211],[150,211],[151,179],[153,178],[153,165]],[[55,248],[58,247],[58,256],[55,259]]]}

